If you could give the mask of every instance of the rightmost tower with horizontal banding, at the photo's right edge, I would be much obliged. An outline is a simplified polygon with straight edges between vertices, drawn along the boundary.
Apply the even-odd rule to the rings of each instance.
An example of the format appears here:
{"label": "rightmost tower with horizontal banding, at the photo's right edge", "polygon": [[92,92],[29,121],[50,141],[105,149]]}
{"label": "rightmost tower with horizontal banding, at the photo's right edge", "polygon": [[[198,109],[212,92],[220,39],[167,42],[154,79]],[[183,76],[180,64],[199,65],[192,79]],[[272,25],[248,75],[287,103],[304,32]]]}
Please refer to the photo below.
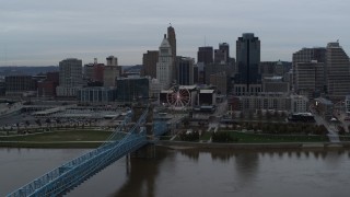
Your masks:
{"label": "rightmost tower with horizontal banding, at the photo's right edge", "polygon": [[339,43],[328,43],[326,65],[329,99],[332,102],[345,100],[350,93],[350,61]]}

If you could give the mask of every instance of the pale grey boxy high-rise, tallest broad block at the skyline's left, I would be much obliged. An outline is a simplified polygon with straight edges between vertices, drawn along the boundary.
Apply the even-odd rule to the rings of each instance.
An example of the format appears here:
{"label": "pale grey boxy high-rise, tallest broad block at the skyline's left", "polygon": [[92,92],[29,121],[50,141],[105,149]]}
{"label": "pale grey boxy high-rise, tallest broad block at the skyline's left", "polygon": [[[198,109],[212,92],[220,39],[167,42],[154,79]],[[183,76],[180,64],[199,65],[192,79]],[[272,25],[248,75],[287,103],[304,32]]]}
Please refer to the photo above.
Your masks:
{"label": "pale grey boxy high-rise, tallest broad block at the skyline's left", "polygon": [[65,59],[59,62],[58,96],[75,96],[77,91],[83,86],[82,60],[75,58]]}

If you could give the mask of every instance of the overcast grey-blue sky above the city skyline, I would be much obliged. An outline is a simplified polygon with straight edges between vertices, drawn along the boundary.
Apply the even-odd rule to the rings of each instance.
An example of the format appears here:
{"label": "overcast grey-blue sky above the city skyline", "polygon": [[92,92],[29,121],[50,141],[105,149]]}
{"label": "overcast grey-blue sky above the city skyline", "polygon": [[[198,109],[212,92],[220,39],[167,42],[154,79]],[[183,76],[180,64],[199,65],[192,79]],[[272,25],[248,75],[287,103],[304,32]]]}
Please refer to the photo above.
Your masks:
{"label": "overcast grey-blue sky above the city skyline", "polygon": [[142,63],[172,24],[177,55],[197,58],[243,33],[261,42],[261,61],[291,61],[303,47],[339,40],[350,55],[349,0],[2,0],[0,66],[51,66],[66,58]]}

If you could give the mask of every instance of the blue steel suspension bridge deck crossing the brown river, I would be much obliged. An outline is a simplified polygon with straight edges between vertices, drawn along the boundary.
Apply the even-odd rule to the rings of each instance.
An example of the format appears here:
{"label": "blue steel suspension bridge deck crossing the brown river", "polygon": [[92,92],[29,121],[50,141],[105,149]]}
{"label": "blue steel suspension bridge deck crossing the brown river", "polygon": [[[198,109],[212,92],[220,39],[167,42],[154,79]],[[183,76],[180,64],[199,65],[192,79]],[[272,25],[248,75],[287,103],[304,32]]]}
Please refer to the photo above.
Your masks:
{"label": "blue steel suspension bridge deck crossing the brown river", "polygon": [[135,114],[129,113],[122,124],[98,148],[54,169],[8,197],[62,196],[118,159],[148,143],[154,143],[156,137],[166,132],[167,127],[164,121],[153,121],[153,135],[150,138],[145,123],[148,114],[149,107],[145,107],[138,120],[131,123]]}

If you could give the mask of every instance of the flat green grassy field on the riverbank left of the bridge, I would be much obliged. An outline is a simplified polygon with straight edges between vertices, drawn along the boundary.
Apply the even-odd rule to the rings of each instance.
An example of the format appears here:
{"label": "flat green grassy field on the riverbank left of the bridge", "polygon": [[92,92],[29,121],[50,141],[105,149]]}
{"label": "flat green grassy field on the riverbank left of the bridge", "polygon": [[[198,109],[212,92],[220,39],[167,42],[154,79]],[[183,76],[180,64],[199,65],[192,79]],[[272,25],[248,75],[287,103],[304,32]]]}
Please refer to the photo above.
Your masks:
{"label": "flat green grassy field on the riverbank left of the bridge", "polygon": [[1,147],[94,148],[113,132],[102,130],[50,131],[36,135],[0,137]]}

